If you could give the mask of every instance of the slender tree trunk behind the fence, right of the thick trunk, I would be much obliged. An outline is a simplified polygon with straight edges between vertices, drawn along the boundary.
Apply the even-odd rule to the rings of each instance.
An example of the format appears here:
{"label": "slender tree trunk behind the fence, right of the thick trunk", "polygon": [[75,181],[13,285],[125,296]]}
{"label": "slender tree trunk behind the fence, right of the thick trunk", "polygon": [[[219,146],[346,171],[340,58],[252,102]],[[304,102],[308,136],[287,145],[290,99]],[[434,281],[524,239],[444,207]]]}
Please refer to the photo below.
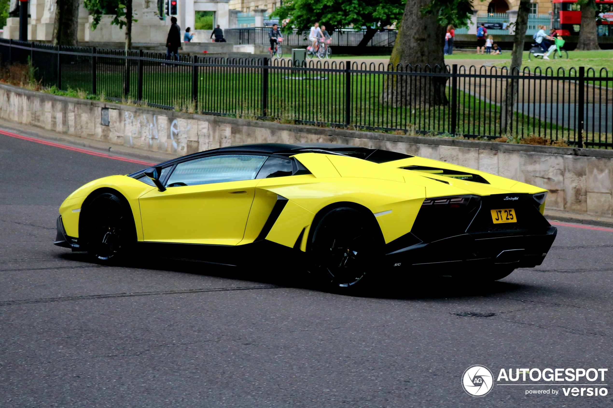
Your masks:
{"label": "slender tree trunk behind the fence, right of the thick trunk", "polygon": [[[509,75],[519,75],[522,67],[524,42],[526,39],[526,30],[528,29],[528,14],[530,14],[530,0],[521,0],[519,2],[519,10],[517,10],[517,21],[515,22],[515,35],[513,37],[513,51],[511,53]],[[506,92],[504,92],[500,115],[501,133],[510,135],[512,132],[513,106],[517,101],[518,92],[519,80],[506,80]]]}

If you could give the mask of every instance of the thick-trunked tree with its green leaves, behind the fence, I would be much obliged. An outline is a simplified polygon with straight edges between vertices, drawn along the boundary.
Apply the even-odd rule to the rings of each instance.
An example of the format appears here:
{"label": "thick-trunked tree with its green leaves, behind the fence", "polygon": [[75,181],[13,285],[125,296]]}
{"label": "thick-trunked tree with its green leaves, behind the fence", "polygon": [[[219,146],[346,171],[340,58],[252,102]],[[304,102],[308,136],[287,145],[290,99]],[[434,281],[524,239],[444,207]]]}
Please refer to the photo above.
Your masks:
{"label": "thick-trunked tree with its green leaves, behind the fence", "polygon": [[[390,57],[392,70],[406,68],[438,70],[445,67],[443,44],[446,27],[465,27],[473,13],[470,0],[407,0],[405,13],[396,35]],[[438,68],[436,66],[438,65]],[[447,78],[418,76],[409,82],[408,76],[390,75],[381,95],[381,102],[391,105],[446,105]]]}

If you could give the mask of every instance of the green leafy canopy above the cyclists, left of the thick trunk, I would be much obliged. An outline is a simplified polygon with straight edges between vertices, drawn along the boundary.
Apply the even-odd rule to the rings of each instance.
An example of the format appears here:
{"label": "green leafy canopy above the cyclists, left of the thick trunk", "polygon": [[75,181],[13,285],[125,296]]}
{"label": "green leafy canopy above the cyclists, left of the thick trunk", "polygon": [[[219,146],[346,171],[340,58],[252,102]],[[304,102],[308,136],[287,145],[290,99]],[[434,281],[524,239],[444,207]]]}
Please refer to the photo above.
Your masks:
{"label": "green leafy canopy above the cyclists, left of the thick trunk", "polygon": [[297,28],[308,30],[314,23],[326,25],[328,31],[353,26],[366,27],[364,37],[357,45],[367,46],[376,32],[394,24],[402,17],[406,0],[290,0],[277,7],[272,15],[289,23],[284,31]]}

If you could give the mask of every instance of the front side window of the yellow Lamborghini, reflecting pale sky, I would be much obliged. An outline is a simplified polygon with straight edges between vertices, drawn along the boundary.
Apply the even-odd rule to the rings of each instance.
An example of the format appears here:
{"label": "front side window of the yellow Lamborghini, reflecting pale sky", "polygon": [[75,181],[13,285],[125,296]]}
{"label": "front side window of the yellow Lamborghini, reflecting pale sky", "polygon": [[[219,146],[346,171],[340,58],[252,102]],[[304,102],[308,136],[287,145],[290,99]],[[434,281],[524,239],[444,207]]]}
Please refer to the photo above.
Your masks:
{"label": "front side window of the yellow Lamborghini, reflecting pale sky", "polygon": [[225,154],[178,163],[166,187],[253,180],[267,156]]}

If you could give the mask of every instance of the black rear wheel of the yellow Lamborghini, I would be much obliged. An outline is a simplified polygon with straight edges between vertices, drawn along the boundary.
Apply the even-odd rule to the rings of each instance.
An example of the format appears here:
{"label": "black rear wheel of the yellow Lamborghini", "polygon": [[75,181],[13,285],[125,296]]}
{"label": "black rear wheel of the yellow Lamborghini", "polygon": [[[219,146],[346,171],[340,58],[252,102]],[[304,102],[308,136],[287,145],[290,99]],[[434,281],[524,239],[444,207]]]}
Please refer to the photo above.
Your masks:
{"label": "black rear wheel of the yellow Lamborghini", "polygon": [[381,231],[371,218],[352,207],[338,207],[323,215],[308,242],[309,272],[342,293],[364,287],[365,277],[374,269],[383,247]]}

